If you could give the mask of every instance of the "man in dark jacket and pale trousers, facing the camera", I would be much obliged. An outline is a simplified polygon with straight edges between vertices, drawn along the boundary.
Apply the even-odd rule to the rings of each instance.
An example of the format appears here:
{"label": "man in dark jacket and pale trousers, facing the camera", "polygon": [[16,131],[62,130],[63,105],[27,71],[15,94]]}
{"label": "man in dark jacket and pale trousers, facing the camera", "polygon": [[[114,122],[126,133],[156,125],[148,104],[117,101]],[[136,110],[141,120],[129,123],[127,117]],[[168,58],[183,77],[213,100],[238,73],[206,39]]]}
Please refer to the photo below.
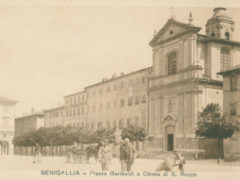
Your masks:
{"label": "man in dark jacket and pale trousers, facing the camera", "polygon": [[134,161],[135,148],[125,138],[124,143],[120,146],[120,162],[122,171],[130,171]]}

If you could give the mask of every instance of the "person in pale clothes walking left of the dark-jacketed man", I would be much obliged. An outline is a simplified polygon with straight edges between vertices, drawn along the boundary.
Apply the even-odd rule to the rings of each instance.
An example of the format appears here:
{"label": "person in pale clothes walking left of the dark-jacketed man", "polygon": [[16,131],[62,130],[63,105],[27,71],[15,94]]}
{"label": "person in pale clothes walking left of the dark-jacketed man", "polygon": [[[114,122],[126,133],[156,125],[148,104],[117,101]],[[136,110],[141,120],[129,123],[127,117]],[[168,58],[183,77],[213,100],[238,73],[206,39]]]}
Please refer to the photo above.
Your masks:
{"label": "person in pale clothes walking left of the dark-jacketed man", "polygon": [[108,140],[104,140],[102,146],[99,148],[98,161],[101,163],[102,171],[109,170],[112,161],[112,147]]}

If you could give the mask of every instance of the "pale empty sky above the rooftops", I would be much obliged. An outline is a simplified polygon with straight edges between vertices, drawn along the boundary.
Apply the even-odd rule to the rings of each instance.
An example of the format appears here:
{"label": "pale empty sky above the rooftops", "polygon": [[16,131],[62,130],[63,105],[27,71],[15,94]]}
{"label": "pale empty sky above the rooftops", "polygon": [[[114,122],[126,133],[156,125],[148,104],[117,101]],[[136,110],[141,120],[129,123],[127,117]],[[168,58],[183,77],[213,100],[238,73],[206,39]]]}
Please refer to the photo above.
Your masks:
{"label": "pale empty sky above the rooftops", "polygon": [[[18,101],[19,116],[57,107],[63,96],[114,73],[149,67],[153,32],[172,14],[187,23],[191,11],[205,33],[216,5],[169,2],[0,1],[0,96]],[[239,10],[227,9],[237,35]]]}

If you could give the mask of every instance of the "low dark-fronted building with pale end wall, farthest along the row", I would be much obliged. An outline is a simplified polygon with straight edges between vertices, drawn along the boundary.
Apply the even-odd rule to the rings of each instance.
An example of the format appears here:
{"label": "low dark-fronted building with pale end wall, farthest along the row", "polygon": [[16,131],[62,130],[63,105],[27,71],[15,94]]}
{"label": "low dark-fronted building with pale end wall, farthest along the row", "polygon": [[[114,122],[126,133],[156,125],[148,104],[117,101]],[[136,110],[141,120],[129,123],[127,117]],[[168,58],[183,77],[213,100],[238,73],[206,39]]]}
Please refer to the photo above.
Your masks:
{"label": "low dark-fronted building with pale end wall, farthest along the row", "polygon": [[44,114],[42,112],[32,113],[15,119],[15,136],[44,127]]}

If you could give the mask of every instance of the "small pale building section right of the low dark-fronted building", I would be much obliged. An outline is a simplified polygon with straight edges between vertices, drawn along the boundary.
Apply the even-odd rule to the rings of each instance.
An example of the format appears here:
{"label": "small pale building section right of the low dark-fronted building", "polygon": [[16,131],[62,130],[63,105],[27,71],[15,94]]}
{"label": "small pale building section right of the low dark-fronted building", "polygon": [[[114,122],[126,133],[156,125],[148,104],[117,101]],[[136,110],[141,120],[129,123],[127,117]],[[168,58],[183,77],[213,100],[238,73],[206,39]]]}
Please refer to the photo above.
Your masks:
{"label": "small pale building section right of the low dark-fronted building", "polygon": [[64,126],[63,106],[44,111],[44,127]]}

